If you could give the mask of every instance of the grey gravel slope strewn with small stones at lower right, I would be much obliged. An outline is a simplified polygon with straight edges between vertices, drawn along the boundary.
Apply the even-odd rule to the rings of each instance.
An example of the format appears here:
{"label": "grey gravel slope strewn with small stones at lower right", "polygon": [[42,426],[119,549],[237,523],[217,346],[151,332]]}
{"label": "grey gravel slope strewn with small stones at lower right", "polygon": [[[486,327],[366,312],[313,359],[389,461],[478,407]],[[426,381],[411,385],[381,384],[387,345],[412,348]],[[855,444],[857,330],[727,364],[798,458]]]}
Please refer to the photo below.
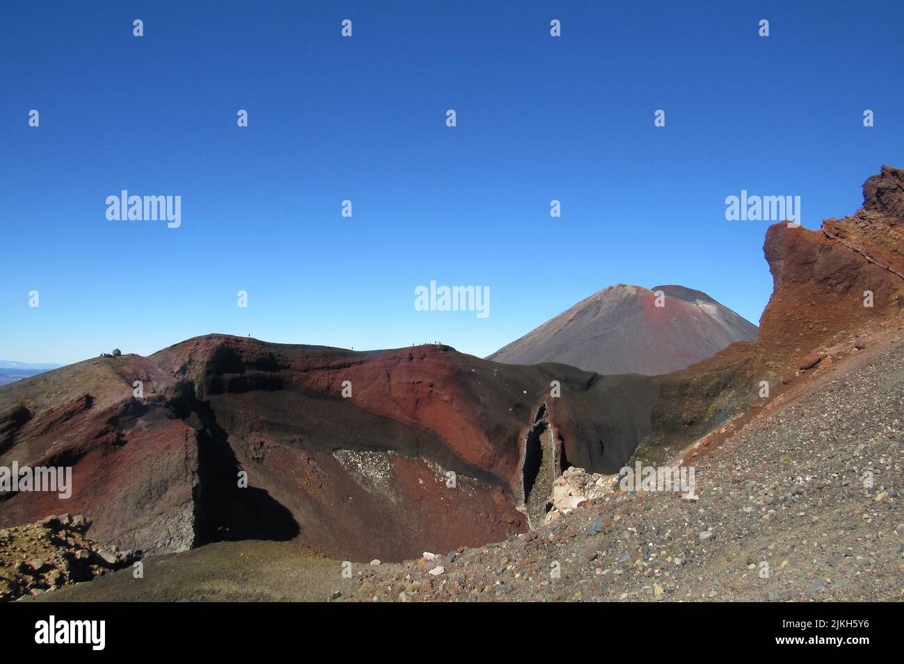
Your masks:
{"label": "grey gravel slope strewn with small stones at lower right", "polygon": [[344,598],[900,600],[902,351],[897,341],[836,365],[727,440],[695,466],[699,500],[617,491],[538,531],[459,550],[442,575],[424,560],[365,570]]}

